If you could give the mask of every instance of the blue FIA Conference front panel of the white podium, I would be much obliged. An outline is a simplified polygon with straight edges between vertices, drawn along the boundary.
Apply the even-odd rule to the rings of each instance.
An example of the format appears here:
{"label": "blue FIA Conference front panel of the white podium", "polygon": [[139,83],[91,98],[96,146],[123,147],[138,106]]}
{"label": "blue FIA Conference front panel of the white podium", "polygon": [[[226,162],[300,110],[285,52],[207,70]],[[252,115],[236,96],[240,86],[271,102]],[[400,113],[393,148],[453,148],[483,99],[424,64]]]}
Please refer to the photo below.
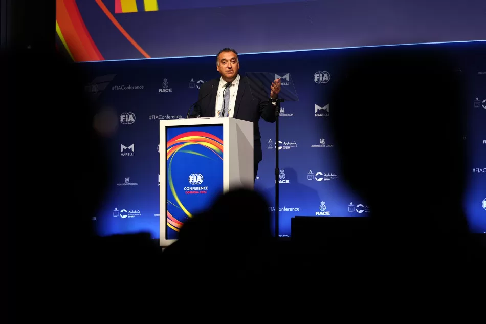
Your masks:
{"label": "blue FIA Conference front panel of the white podium", "polygon": [[166,127],[166,240],[223,192],[223,125]]}

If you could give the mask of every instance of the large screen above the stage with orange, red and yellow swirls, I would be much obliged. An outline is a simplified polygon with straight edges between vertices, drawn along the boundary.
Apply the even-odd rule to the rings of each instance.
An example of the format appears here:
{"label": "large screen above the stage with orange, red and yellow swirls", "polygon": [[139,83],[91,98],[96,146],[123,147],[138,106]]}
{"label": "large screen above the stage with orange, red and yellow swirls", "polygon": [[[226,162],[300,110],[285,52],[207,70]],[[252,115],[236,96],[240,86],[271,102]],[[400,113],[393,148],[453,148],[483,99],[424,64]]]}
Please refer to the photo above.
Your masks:
{"label": "large screen above the stage with orange, red and yellow swirls", "polygon": [[484,0],[57,0],[75,61],[486,40]]}

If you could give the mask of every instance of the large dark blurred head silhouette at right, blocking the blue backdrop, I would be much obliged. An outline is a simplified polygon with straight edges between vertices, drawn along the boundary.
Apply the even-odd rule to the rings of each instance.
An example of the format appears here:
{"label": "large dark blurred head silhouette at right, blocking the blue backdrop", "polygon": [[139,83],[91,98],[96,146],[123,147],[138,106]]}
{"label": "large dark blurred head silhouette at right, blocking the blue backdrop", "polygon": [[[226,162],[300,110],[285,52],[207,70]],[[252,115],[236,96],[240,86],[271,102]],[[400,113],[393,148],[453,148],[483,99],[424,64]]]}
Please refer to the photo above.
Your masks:
{"label": "large dark blurred head silhouette at right, blocking the blue backdrop", "polygon": [[465,229],[460,73],[438,50],[370,51],[330,98],[345,180],[387,230]]}

